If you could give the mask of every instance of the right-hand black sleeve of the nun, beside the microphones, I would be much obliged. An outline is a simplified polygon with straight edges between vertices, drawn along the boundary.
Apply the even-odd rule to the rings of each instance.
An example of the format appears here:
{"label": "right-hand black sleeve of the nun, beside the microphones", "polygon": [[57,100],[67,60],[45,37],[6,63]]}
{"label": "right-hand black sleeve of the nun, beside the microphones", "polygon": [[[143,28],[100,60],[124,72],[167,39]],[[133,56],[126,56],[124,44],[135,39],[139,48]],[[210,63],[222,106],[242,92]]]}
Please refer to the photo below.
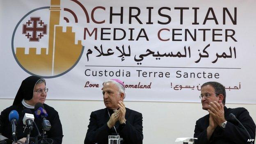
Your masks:
{"label": "right-hand black sleeve of the nun, beside the microphones", "polygon": [[48,132],[48,138],[53,139],[53,144],[62,144],[62,124],[59,120],[59,114],[56,112],[53,116],[53,120],[50,121],[51,129]]}

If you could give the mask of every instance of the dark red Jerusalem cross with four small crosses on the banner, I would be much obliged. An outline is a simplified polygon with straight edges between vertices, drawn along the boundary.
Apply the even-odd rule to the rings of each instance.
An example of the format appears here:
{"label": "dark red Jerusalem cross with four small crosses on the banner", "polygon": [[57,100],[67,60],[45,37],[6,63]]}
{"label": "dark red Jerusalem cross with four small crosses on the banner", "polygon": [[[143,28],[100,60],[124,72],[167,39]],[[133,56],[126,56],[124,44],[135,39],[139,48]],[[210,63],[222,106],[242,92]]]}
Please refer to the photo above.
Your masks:
{"label": "dark red Jerusalem cross with four small crosses on the banner", "polygon": [[47,34],[47,25],[40,20],[40,17],[30,17],[30,20],[23,24],[22,34],[25,34],[29,41],[39,41],[43,34]]}

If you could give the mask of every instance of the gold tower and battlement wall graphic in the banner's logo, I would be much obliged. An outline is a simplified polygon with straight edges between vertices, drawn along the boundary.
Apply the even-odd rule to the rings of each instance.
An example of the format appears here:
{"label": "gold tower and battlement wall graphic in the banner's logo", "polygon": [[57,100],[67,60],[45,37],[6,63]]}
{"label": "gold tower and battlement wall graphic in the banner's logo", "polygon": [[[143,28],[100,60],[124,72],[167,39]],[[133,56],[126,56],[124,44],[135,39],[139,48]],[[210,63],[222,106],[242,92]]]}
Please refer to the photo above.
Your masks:
{"label": "gold tower and battlement wall graphic in the banner's logo", "polygon": [[81,40],[75,44],[75,32],[72,27],[62,31],[59,25],[60,0],[50,2],[50,23],[48,54],[46,48],[41,48],[41,53],[36,54],[37,48],[29,48],[25,54],[24,47],[16,48],[18,62],[29,72],[41,76],[54,76],[69,70],[79,59],[82,53]]}

